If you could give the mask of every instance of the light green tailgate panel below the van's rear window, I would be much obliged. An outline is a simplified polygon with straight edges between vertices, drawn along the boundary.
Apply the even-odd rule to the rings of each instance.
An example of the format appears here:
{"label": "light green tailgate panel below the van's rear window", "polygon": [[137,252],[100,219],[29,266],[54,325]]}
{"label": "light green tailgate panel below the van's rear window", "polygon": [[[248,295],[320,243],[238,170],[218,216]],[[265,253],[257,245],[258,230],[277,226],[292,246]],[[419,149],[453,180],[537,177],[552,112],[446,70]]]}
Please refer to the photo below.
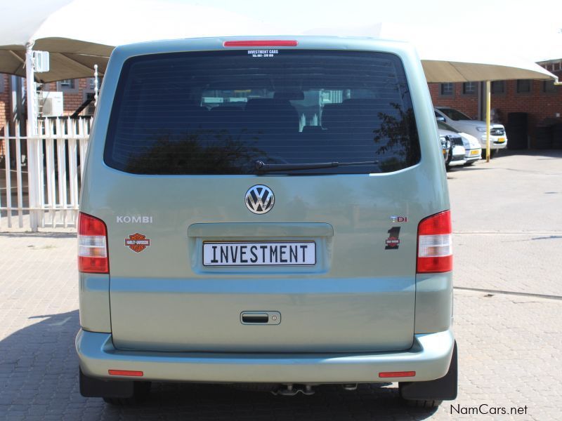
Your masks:
{"label": "light green tailgate panel below the van's rear window", "polygon": [[[348,175],[332,185],[324,176],[311,176],[299,178],[298,190],[296,178],[260,178],[276,197],[265,215],[244,206],[253,177],[224,178],[221,194],[214,195],[205,192],[214,190],[216,178],[138,182],[135,176],[131,182],[133,177],[122,175],[113,188],[123,192],[119,203],[126,205],[105,218],[115,346],[244,352],[407,349],[414,331],[417,215],[423,210],[396,185],[407,185],[416,172]],[[334,203],[334,190],[346,200]],[[175,193],[161,193],[168,191]],[[162,201],[165,207],[158,206]],[[117,222],[131,208],[152,222]],[[391,220],[400,213],[407,222]],[[131,250],[125,240],[134,234],[145,236],[150,246]],[[203,248],[209,242],[314,243],[315,262],[208,266]],[[278,312],[280,323],[243,324],[242,312]]]}

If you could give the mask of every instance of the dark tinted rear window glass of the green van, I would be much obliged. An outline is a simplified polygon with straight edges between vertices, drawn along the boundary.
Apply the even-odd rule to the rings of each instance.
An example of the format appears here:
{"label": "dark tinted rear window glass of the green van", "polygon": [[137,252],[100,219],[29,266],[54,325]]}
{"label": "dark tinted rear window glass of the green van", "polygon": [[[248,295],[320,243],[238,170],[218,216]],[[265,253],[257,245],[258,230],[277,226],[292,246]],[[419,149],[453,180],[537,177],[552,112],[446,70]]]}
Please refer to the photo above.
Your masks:
{"label": "dark tinted rear window glass of the green van", "polygon": [[268,49],[127,60],[104,159],[137,174],[256,174],[256,161],[361,163],[276,174],[380,173],[419,154],[396,55]]}

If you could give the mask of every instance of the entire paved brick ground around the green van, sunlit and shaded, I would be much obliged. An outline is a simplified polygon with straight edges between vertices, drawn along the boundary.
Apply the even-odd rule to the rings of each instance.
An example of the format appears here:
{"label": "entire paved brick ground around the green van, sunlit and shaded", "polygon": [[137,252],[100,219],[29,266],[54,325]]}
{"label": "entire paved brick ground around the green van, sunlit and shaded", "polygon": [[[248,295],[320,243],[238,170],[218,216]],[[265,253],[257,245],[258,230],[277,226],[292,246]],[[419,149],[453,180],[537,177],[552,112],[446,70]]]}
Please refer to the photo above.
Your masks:
{"label": "entire paved brick ground around the green van, sunlit and shaded", "polygon": [[[553,297],[456,290],[459,397],[438,410],[401,406],[396,385],[362,386],[356,392],[320,387],[314,396],[286,398],[226,386],[158,383],[150,400],[136,408],[85,399],[78,392],[74,352],[75,237],[8,233],[0,234],[0,420],[560,420],[558,157],[503,156],[449,173],[456,285]],[[532,193],[523,187],[532,187]],[[498,212],[504,206],[498,202],[514,197],[511,214]],[[476,416],[454,409],[466,412],[481,404],[508,411],[527,406],[527,413]]]}

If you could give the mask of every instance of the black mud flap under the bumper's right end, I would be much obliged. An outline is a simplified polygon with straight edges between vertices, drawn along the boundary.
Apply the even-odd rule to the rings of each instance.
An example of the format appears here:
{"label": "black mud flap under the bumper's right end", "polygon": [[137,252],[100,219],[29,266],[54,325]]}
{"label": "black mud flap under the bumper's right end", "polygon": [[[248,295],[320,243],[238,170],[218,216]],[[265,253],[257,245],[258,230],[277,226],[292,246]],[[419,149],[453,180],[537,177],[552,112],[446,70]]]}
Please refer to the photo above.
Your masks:
{"label": "black mud flap under the bumper's right end", "polygon": [[400,382],[400,396],[411,401],[452,401],[457,399],[457,341],[445,377],[428,382]]}

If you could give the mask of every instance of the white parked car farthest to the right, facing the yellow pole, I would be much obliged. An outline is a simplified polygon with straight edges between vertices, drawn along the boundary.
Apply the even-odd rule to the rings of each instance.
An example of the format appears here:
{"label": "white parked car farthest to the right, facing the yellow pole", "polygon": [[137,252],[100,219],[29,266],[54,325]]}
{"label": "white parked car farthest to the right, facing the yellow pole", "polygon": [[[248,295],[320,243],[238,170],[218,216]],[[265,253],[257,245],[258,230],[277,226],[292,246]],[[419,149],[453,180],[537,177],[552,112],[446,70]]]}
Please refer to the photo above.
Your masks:
{"label": "white parked car farthest to the right, facing the yellow pole", "polygon": [[[462,133],[473,135],[482,149],[486,149],[486,123],[485,121],[473,120],[458,109],[450,107],[435,107],[435,116],[438,121],[443,121]],[[507,135],[502,124],[490,124],[490,155],[494,155],[498,149],[507,147]]]}

